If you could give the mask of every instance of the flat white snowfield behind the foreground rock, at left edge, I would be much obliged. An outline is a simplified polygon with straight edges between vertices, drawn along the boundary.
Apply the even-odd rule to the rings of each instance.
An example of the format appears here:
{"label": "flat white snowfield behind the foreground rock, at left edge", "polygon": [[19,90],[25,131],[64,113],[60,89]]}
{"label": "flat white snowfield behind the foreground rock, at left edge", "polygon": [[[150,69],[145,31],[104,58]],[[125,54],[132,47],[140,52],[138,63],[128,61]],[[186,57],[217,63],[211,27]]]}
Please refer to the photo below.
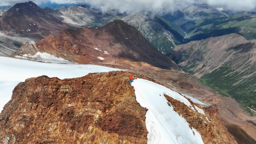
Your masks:
{"label": "flat white snowfield behind the foreground rock, at left edge", "polygon": [[15,86],[27,78],[46,75],[65,79],[115,70],[119,69],[99,65],[51,64],[0,56],[0,111],[10,100]]}

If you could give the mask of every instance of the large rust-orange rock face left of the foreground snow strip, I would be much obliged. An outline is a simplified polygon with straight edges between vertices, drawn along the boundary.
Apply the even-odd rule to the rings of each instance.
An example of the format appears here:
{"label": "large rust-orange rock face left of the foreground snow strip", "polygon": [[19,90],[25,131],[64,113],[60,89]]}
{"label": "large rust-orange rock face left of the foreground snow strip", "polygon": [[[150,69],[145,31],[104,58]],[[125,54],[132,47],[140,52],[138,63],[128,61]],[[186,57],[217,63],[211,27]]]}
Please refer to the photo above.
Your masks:
{"label": "large rust-orange rock face left of the foreground snow strip", "polygon": [[19,83],[0,115],[0,143],[146,144],[146,109],[127,72]]}

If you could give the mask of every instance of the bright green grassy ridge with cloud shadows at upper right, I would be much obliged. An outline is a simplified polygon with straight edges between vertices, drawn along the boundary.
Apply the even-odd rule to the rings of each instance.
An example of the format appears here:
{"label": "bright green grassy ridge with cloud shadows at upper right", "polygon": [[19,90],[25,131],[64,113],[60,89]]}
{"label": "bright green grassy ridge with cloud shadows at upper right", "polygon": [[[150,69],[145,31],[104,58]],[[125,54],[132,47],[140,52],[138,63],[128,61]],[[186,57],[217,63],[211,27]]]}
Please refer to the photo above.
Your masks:
{"label": "bright green grassy ridge with cloud shadows at upper right", "polygon": [[180,27],[188,34],[188,41],[237,33],[247,40],[256,38],[256,15],[237,14],[213,19],[189,21]]}

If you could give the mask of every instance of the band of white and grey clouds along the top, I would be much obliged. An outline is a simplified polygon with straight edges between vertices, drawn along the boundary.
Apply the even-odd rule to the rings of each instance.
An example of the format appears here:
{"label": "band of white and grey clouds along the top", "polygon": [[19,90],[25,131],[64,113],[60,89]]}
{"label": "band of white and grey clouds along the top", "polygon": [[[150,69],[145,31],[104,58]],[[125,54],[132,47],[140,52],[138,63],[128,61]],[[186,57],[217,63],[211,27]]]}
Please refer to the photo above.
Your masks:
{"label": "band of white and grey clouds along the top", "polygon": [[[0,6],[13,6],[28,0],[0,0]],[[31,0],[36,4],[48,1],[59,4],[91,4],[101,8],[118,9],[120,12],[173,12],[195,3],[207,3],[219,10],[250,11],[256,8],[256,0]]]}

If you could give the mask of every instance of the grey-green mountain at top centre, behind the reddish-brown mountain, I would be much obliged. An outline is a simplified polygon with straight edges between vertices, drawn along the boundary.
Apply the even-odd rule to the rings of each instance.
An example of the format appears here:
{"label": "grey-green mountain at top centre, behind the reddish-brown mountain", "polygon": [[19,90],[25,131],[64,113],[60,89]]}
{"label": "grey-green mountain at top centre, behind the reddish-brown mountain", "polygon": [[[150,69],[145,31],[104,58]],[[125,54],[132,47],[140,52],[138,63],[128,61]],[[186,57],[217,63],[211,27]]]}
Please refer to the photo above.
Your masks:
{"label": "grey-green mountain at top centre, behind the reddish-brown mountain", "polygon": [[168,53],[176,45],[182,44],[185,37],[185,32],[180,27],[158,15],[137,13],[130,14],[122,20],[137,28],[162,53]]}

